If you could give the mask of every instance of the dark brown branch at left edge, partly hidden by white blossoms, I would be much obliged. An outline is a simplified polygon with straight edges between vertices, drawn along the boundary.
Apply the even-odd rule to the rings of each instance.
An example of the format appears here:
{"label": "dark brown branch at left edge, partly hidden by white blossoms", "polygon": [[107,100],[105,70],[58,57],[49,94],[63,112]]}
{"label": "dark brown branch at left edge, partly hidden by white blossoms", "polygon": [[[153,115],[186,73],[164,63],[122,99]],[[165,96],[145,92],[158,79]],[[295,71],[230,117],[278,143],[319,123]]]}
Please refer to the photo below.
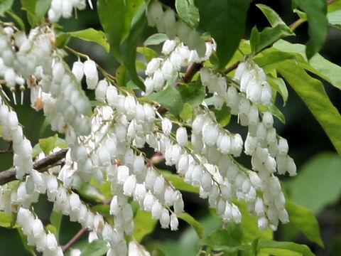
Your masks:
{"label": "dark brown branch at left edge, partly hidden by white blossoms", "polygon": [[[40,172],[44,172],[53,166],[63,164],[63,161],[61,160],[65,157],[67,150],[69,149],[68,148],[60,149],[60,151],[50,154],[49,156],[46,156],[44,159],[40,159],[36,161],[33,164],[33,169],[36,169],[37,171],[40,171]],[[8,183],[9,181],[15,181],[15,180],[16,180],[16,167],[0,172],[0,185],[4,185]]]}

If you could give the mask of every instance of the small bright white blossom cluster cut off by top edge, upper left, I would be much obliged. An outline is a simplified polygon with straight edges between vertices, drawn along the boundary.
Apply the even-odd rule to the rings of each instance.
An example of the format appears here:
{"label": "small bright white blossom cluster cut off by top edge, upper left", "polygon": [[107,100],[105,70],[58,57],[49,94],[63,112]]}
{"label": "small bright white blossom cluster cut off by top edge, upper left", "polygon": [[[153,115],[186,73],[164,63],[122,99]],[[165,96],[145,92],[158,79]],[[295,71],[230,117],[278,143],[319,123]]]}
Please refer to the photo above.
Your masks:
{"label": "small bright white blossom cluster cut off by top edge, upper left", "polygon": [[[92,1],[88,0],[88,3],[92,9]],[[48,9],[48,19],[57,22],[61,17],[70,18],[73,9],[84,10],[86,6],[85,0],[52,0]]]}

